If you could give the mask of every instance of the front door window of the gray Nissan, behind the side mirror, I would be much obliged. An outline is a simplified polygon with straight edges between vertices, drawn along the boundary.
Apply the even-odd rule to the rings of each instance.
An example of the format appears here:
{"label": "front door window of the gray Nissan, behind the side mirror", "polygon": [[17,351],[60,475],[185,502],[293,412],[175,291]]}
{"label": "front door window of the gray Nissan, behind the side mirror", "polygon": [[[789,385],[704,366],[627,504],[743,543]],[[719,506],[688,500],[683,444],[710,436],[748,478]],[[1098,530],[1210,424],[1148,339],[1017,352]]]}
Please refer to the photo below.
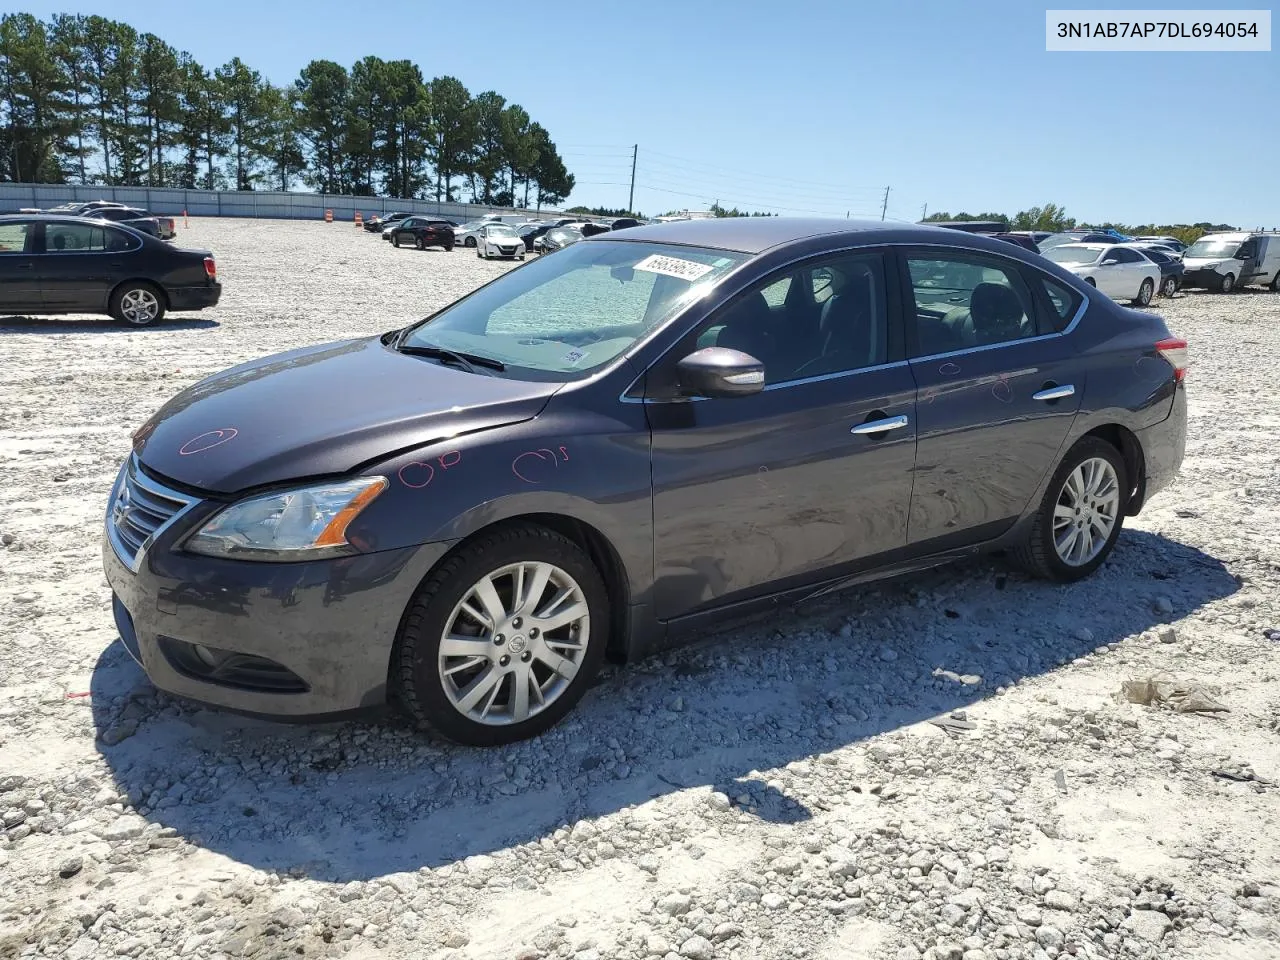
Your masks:
{"label": "front door window of the gray Nissan, behind the side mirror", "polygon": [[[888,355],[884,276],[879,253],[841,255],[774,275],[717,310],[695,333],[696,347],[755,357],[767,384],[877,366]],[[794,296],[796,285],[808,296]]]}

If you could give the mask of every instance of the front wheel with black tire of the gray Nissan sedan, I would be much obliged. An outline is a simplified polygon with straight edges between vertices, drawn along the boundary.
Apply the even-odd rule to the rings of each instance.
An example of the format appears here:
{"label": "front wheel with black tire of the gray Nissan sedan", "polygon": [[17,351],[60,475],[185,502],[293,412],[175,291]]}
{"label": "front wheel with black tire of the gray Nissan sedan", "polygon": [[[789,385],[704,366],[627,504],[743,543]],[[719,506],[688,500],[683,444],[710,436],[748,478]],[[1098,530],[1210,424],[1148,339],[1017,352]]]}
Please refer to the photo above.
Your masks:
{"label": "front wheel with black tire of the gray Nissan sedan", "polygon": [[[529,607],[512,602],[516,581],[511,571],[521,566],[531,573],[530,564],[543,564],[554,571],[552,579],[544,581],[547,586],[541,598],[556,596],[571,582],[575,588],[571,596],[576,594],[579,598],[572,600],[572,605],[585,609],[585,620],[580,616],[572,625],[554,628],[561,635],[559,641],[552,641],[558,644],[556,650],[544,637],[532,635],[531,625],[520,622],[531,620],[529,613],[518,617]],[[503,609],[504,620],[495,628],[481,626],[460,609],[472,589],[486,579],[494,588],[493,599]],[[521,582],[526,584],[526,589],[531,588],[530,582]],[[480,600],[472,598],[472,603]],[[543,599],[541,608],[545,609],[549,603]],[[534,608],[538,605],[535,599]],[[591,685],[604,660],[608,622],[609,599],[604,580],[577,544],[531,525],[483,534],[440,563],[410,602],[392,653],[394,695],[419,728],[460,744],[498,746],[536,736],[573,709]],[[581,639],[584,626],[585,640]],[[529,632],[516,634],[516,630]],[[463,644],[453,654],[445,654],[449,659],[448,675],[440,649],[445,631],[454,640],[461,637]],[[467,649],[472,643],[477,654]],[[577,650],[576,659],[572,650]],[[467,666],[477,655],[480,662]],[[572,667],[572,676],[553,671],[541,657],[554,657],[566,668]],[[520,662],[530,666],[521,667]],[[516,684],[521,677],[543,685],[541,695],[550,699],[544,707],[538,707],[531,682],[526,687],[527,718],[517,721],[515,716],[520,710],[520,700]],[[471,704],[456,703],[456,699],[465,700],[468,692],[479,699]],[[465,713],[465,709],[495,713],[488,714],[490,719],[485,721]]]}

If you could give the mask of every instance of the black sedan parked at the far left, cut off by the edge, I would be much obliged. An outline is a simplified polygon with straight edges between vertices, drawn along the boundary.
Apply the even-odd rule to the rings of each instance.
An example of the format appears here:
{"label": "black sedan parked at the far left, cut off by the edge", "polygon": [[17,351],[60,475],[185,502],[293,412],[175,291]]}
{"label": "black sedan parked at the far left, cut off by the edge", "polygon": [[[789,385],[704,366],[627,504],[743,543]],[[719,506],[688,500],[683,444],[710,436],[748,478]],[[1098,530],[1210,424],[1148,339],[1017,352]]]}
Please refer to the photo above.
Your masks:
{"label": "black sedan parked at the far left, cut off by the edge", "polygon": [[109,314],[148,326],[221,294],[207,250],[79,216],[0,216],[0,311]]}

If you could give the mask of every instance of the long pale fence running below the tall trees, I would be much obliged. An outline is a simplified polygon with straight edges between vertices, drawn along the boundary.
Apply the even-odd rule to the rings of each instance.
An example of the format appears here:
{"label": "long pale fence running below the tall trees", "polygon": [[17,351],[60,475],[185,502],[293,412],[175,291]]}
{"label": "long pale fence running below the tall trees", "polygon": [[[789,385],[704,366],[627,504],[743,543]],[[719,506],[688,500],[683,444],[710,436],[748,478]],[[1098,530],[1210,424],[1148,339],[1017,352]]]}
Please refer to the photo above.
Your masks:
{"label": "long pale fence running below the tall trees", "polygon": [[[0,183],[0,212],[22,207],[50,207],[87,200],[111,200],[141,206],[154,214],[180,216],[259,216],[279,220],[323,220],[333,210],[334,220],[353,220],[374,214],[403,211],[438,214],[463,221],[484,214],[529,214],[539,211],[484,206],[483,204],[436,204],[434,200],[392,197],[347,197],[333,193],[283,193],[278,191],[170,189],[166,187],[82,187],[51,183]],[[541,214],[554,214],[543,210]]]}

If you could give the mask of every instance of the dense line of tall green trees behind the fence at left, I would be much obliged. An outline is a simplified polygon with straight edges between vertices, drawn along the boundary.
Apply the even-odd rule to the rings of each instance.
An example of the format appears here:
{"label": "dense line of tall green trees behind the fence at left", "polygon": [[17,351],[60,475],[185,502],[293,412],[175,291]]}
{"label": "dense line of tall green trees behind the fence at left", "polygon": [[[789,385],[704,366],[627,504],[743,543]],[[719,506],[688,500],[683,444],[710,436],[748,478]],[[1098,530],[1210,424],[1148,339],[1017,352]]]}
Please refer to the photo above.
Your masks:
{"label": "dense line of tall green trees behind the fence at left", "polygon": [[0,18],[0,180],[559,204],[547,129],[410,60],[312,60],[287,86],[206,69],[104,17]]}

